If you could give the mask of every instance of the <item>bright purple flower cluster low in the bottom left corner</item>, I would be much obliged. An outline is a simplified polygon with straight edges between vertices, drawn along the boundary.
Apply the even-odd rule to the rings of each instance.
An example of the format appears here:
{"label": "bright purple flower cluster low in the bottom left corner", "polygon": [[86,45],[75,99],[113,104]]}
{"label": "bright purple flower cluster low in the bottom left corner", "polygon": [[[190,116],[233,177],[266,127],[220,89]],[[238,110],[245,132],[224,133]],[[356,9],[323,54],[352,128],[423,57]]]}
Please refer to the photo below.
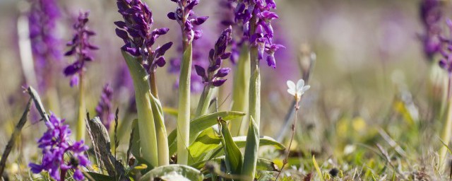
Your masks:
{"label": "bright purple flower cluster low in the bottom left corner", "polygon": [[[90,161],[83,154],[88,150],[88,146],[83,141],[77,141],[71,144],[69,137],[71,129],[69,125],[63,124],[64,119],[59,119],[54,114],[50,116],[49,122],[46,122],[47,132],[37,141],[39,148],[42,149],[41,164],[30,163],[32,173],[41,173],[43,170],[49,172],[49,175],[55,180],[64,180],[68,170],[73,170],[73,179],[83,180],[83,173],[80,167],[90,165]],[[69,153],[69,161],[64,160],[64,154]]]}

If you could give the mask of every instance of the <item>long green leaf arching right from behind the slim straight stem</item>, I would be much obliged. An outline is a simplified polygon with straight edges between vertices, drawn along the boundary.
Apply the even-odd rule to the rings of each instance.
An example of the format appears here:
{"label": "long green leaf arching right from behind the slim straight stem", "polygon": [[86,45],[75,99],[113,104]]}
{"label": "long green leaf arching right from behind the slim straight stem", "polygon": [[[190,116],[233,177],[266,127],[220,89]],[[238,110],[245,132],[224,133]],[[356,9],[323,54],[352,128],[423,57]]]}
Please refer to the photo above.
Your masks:
{"label": "long green leaf arching right from behind the slim straight stem", "polygon": [[[217,124],[218,117],[222,117],[223,120],[227,121],[230,119],[234,119],[237,117],[243,117],[245,113],[237,112],[237,111],[222,111],[215,112],[209,115],[203,115],[201,117],[196,117],[195,119],[191,119],[190,122],[190,140],[195,140],[194,135],[199,132],[207,129],[208,127],[212,127]],[[168,147],[169,147],[169,156],[172,156],[177,151],[177,140],[176,140],[176,130],[172,131],[168,135]],[[191,142],[190,141],[190,142]],[[218,142],[220,143],[220,142]]]}

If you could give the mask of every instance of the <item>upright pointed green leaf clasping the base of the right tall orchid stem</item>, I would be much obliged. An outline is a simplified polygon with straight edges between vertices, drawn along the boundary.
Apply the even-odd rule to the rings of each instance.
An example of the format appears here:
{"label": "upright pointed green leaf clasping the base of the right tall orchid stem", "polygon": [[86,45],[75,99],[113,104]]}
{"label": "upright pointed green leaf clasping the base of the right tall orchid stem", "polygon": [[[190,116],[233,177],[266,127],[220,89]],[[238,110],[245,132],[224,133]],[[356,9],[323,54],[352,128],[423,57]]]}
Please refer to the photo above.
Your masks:
{"label": "upright pointed green leaf clasping the base of the right tall orchid stem", "polygon": [[250,180],[254,180],[254,173],[256,172],[258,145],[258,127],[256,122],[254,122],[254,118],[250,116],[248,134],[246,136],[244,163],[242,168],[242,175],[249,177]]}

